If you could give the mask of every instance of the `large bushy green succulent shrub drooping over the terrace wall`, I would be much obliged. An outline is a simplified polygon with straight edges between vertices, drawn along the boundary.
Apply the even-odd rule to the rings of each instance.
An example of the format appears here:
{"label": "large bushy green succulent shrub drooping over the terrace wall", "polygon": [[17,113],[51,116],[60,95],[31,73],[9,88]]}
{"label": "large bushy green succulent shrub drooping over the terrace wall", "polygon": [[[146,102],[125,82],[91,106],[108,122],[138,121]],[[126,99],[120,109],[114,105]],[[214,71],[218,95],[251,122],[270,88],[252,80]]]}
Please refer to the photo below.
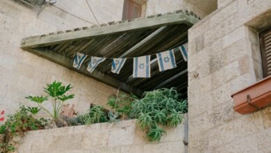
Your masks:
{"label": "large bushy green succulent shrub drooping over the terrace wall", "polygon": [[146,132],[150,141],[158,141],[166,134],[158,124],[176,127],[187,111],[187,101],[180,99],[174,88],[163,88],[145,92],[142,99],[133,101],[130,118],[138,119],[138,127]]}

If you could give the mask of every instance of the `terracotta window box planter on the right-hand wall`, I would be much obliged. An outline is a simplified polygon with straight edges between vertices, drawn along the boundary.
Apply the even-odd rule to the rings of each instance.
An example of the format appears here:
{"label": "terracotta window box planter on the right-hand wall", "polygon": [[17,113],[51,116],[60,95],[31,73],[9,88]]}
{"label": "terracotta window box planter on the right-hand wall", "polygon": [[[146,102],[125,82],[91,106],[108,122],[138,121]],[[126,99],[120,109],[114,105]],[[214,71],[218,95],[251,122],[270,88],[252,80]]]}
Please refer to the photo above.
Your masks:
{"label": "terracotta window box planter on the right-hand wall", "polygon": [[234,111],[252,113],[271,104],[271,76],[254,83],[233,95]]}

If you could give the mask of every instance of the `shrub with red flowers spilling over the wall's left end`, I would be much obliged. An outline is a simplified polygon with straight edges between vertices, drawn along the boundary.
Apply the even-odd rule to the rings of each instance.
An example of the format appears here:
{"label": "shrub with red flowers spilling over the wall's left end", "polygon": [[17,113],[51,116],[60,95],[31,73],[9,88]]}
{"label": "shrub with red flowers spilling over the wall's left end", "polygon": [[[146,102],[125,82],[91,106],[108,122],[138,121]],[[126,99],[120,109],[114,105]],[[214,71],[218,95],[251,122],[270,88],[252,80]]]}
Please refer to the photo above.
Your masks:
{"label": "shrub with red flowers spilling over the wall's left end", "polygon": [[0,126],[1,137],[0,152],[6,153],[15,150],[14,136],[22,136],[24,132],[44,129],[48,120],[44,118],[35,119],[32,114],[28,113],[25,106],[20,106],[19,110],[13,114],[8,115],[8,120],[5,124]]}

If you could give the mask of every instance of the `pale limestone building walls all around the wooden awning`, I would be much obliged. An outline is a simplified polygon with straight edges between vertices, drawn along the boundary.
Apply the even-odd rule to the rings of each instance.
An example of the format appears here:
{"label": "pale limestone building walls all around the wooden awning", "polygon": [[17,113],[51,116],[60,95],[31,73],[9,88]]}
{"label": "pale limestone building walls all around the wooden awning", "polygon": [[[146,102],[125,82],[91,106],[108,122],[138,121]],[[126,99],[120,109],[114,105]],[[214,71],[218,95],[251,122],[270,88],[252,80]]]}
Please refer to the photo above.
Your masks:
{"label": "pale limestone building walls all around the wooden awning", "polygon": [[[264,78],[259,33],[271,26],[271,1],[134,2],[140,5],[140,17],[187,10],[190,15],[200,18],[188,30],[188,150],[182,143],[183,126],[162,143],[146,145],[139,142],[134,122],[129,121],[124,123],[128,131],[122,131],[122,125],[90,127],[93,131],[99,131],[99,128],[114,131],[115,128],[116,132],[106,134],[107,139],[99,141],[101,143],[85,138],[82,141],[88,147],[77,147],[73,143],[63,147],[63,144],[54,143],[39,148],[31,140],[38,138],[39,133],[33,131],[26,137],[21,152],[30,152],[30,146],[35,146],[31,152],[49,152],[49,147],[58,146],[62,147],[62,152],[271,152],[271,107],[240,115],[233,111],[231,98],[233,92]],[[76,104],[78,110],[85,111],[90,103],[106,107],[108,96],[113,95],[116,88],[24,51],[21,41],[33,35],[121,21],[123,10],[123,0],[58,0],[42,10],[20,1],[0,0],[0,111],[12,113],[20,102],[28,104],[24,97],[42,94],[40,89],[54,80],[74,86],[76,97],[71,103]],[[65,131],[59,130],[59,136],[55,137],[65,139]],[[70,135],[65,142],[73,140],[74,130],[84,129],[69,129]],[[114,138],[122,132],[126,132],[124,139],[115,142]],[[178,134],[181,139],[175,137]],[[100,147],[90,151],[93,144]]]}

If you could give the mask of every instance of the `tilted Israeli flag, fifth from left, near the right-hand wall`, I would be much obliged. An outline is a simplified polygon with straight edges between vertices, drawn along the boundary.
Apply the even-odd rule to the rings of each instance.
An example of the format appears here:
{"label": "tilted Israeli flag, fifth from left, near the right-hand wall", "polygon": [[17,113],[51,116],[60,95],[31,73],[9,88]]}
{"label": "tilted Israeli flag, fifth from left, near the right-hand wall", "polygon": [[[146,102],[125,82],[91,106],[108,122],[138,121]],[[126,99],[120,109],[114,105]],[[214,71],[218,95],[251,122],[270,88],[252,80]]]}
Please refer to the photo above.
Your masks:
{"label": "tilted Israeli flag, fifth from left, near the right-hand wall", "polygon": [[164,51],[156,54],[158,60],[159,71],[170,70],[176,67],[174,51]]}

